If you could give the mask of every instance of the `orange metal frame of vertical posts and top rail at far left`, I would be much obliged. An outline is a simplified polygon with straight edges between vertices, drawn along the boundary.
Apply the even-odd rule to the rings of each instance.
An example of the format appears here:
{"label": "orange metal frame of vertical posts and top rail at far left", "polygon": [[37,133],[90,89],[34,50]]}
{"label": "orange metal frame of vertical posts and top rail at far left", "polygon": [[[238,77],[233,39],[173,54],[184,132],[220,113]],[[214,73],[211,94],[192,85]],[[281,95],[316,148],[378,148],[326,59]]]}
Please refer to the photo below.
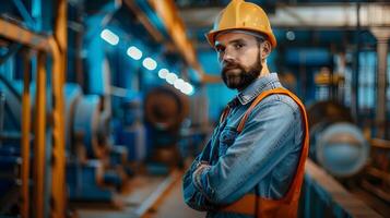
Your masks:
{"label": "orange metal frame of vertical posts and top rail at far left", "polygon": [[[46,56],[52,57],[52,184],[50,199],[50,217],[64,217],[66,214],[66,157],[64,157],[64,97],[63,83],[66,78],[67,56],[67,1],[59,0],[55,35],[45,37],[25,29],[16,24],[0,19],[0,36],[17,41],[38,51],[38,73],[36,77],[35,140],[33,178],[35,189],[32,205],[29,205],[29,126],[31,126],[31,94],[29,69],[24,73],[22,95],[22,217],[44,217],[45,187],[45,147],[46,147]],[[29,209],[32,208],[32,213]]]}

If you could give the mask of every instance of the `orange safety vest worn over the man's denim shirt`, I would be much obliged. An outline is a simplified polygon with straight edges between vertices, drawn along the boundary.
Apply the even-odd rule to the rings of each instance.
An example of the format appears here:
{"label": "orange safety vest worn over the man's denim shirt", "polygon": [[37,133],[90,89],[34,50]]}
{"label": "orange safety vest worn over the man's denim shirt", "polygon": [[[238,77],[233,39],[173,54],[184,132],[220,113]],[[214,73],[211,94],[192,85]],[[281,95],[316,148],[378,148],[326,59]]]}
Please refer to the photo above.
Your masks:
{"label": "orange safety vest worn over the man's denim shirt", "polygon": [[[250,112],[253,108],[267,96],[273,94],[281,94],[287,95],[294,99],[294,101],[299,106],[302,112],[303,123],[305,124],[305,138],[303,141],[304,147],[302,149],[298,167],[296,174],[293,179],[293,182],[287,191],[286,195],[281,199],[268,199],[256,194],[247,194],[244,195],[237,202],[224,206],[220,208],[220,211],[226,213],[236,213],[236,214],[244,214],[249,216],[257,216],[261,218],[295,218],[297,217],[298,210],[298,201],[300,195],[300,186],[304,180],[304,172],[305,172],[305,161],[307,158],[308,149],[309,149],[309,129],[308,129],[308,121],[307,114],[305,110],[305,106],[300,102],[299,98],[296,97],[293,93],[284,88],[274,88],[270,90],[265,90],[261,93],[251,106],[248,108],[246,113],[244,114],[240,123],[238,124],[237,132],[240,133],[244,129],[245,122],[247,121]],[[227,117],[228,109],[224,111],[222,116],[222,121]],[[257,210],[257,211],[256,211]]]}

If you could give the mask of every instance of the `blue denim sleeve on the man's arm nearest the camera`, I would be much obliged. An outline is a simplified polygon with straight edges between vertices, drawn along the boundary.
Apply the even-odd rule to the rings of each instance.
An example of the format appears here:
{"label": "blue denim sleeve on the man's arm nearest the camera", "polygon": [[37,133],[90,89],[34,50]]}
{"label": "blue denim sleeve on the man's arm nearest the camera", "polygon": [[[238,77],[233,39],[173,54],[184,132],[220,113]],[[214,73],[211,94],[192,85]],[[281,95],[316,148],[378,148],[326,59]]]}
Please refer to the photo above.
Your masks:
{"label": "blue denim sleeve on the man's arm nearest the camera", "polygon": [[192,175],[194,187],[216,205],[239,199],[293,149],[285,141],[294,135],[297,111],[280,100],[259,105],[226,154]]}

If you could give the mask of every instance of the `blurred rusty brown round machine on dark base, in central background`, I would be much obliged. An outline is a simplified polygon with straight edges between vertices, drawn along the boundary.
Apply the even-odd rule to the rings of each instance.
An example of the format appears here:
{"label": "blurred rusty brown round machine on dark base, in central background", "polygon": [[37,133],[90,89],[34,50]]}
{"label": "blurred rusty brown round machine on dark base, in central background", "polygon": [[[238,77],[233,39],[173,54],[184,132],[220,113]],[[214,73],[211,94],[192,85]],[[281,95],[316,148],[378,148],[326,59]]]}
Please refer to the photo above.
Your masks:
{"label": "blurred rusty brown round machine on dark base, in central background", "polygon": [[181,122],[189,112],[188,99],[169,87],[157,87],[147,93],[144,107],[145,119],[151,125],[147,130],[149,146],[152,146],[146,159],[180,166],[182,160],[177,142]]}

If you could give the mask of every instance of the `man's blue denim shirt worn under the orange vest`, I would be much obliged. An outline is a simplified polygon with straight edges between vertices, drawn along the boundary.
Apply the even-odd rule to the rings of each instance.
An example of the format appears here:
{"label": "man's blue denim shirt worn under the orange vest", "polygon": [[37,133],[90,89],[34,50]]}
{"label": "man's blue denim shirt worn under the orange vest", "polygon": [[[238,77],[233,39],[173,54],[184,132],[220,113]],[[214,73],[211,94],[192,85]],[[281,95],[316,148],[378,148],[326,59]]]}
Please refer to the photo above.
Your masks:
{"label": "man's blue denim shirt worn under the orange vest", "polygon": [[[282,87],[277,74],[256,80],[234,98],[202,153],[182,178],[184,198],[206,217],[248,217],[217,208],[248,193],[279,199],[286,194],[299,161],[304,130],[297,104],[285,95],[265,97],[237,126],[255,98]],[[203,165],[201,165],[203,164]]]}

